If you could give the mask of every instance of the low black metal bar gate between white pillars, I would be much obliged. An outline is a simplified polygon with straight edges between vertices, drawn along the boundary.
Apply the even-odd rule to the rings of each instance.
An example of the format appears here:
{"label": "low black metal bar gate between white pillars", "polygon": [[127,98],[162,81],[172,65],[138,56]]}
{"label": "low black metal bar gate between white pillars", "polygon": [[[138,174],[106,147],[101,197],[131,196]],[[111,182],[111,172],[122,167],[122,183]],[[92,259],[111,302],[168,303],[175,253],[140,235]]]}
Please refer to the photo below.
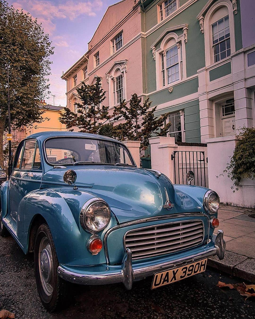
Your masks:
{"label": "low black metal bar gate between white pillars", "polygon": [[175,184],[187,184],[186,174],[191,170],[194,173],[191,185],[208,187],[208,168],[204,151],[174,151],[171,159],[174,161]]}

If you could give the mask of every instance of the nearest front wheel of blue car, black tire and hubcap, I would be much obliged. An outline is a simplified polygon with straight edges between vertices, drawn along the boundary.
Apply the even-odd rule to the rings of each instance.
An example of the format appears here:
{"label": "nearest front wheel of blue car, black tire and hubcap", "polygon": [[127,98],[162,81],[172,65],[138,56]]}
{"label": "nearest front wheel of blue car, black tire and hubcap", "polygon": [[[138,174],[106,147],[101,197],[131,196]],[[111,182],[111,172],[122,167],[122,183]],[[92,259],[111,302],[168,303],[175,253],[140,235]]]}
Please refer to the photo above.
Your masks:
{"label": "nearest front wheel of blue car, black tire and hubcap", "polygon": [[38,228],[35,237],[34,266],[37,289],[42,304],[51,312],[58,310],[66,301],[67,282],[57,275],[59,262],[47,224],[42,224]]}

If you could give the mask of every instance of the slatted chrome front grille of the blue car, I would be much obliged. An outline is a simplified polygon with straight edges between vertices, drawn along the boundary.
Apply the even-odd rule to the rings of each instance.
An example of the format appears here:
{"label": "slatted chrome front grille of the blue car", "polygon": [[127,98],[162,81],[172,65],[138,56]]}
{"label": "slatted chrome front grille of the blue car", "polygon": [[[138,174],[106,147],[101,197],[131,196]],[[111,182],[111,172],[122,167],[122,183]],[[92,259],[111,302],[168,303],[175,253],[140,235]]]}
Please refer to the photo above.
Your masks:
{"label": "slatted chrome front grille of the blue car", "polygon": [[203,242],[201,220],[188,220],[130,230],[124,245],[132,250],[132,258],[140,259],[188,249]]}

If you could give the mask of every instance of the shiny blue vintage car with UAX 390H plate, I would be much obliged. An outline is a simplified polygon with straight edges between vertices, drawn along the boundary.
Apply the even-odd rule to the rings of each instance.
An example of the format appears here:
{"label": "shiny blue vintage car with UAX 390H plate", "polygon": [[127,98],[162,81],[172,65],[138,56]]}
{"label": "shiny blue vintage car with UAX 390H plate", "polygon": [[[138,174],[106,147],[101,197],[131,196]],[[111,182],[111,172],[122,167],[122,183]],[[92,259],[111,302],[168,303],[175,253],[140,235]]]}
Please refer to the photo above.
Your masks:
{"label": "shiny blue vintage car with UAX 390H plate", "polygon": [[131,289],[153,276],[154,289],[205,271],[208,257],[224,257],[223,232],[213,235],[219,204],[210,189],[136,167],[117,140],[43,132],[17,148],[1,186],[0,234],[34,253],[39,295],[53,311],[67,281]]}

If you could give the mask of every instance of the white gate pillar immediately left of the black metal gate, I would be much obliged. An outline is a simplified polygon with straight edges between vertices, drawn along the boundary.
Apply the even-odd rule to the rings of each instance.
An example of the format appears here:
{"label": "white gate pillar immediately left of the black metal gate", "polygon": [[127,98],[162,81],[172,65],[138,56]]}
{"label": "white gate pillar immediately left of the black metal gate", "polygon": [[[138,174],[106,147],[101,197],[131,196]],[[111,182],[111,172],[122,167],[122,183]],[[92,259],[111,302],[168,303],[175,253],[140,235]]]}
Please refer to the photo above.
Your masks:
{"label": "white gate pillar immediately left of the black metal gate", "polygon": [[174,137],[151,137],[149,138],[151,152],[151,169],[156,169],[174,181],[174,163],[171,159],[173,151],[178,150]]}

